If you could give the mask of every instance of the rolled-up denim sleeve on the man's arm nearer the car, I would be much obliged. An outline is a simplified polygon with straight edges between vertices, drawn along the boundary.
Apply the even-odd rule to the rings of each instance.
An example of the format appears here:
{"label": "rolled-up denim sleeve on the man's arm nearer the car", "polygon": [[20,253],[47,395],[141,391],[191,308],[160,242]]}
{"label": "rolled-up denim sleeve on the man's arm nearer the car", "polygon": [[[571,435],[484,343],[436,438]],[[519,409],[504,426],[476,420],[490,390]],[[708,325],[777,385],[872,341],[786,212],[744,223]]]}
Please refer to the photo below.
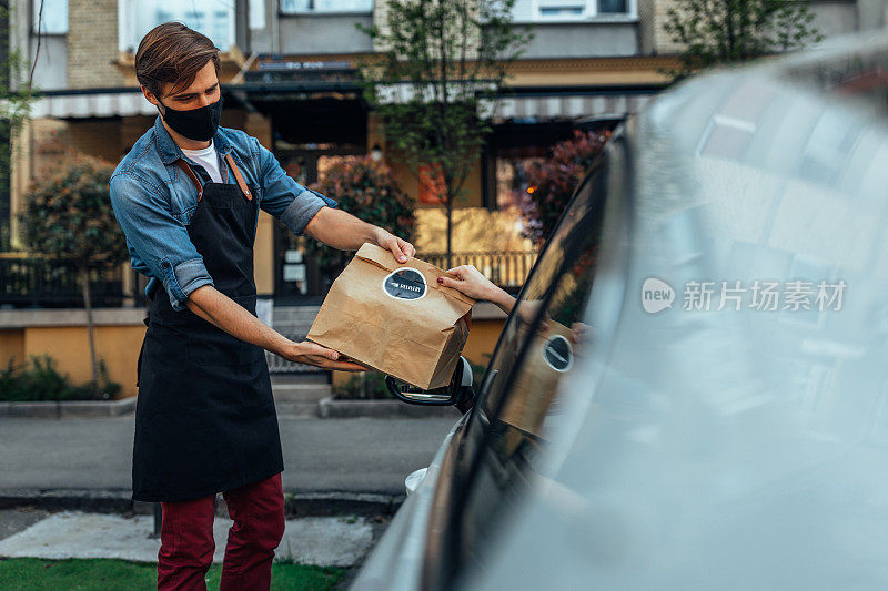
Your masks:
{"label": "rolled-up denim sleeve on the man's arm nearer the car", "polygon": [[295,182],[281,167],[274,154],[259,141],[255,141],[255,147],[259,150],[260,176],[264,187],[259,204],[263,211],[283,222],[294,233],[301,234],[321,207],[336,206],[334,200]]}

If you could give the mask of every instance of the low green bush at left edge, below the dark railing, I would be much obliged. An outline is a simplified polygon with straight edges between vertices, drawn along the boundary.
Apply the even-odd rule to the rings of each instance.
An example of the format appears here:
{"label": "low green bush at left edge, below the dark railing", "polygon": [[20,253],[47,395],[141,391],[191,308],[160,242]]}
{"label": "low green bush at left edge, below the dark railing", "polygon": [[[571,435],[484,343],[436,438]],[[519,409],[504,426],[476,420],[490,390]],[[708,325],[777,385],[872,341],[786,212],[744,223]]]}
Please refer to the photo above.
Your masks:
{"label": "low green bush at left edge, below the dark railing", "polygon": [[31,356],[31,366],[16,365],[9,360],[0,370],[0,400],[9,403],[37,403],[46,400],[110,400],[121,390],[120,384],[111,381],[104,360],[99,361],[101,380],[98,388],[88,383],[73,386],[68,376],[56,369],[56,360],[49,355]]}

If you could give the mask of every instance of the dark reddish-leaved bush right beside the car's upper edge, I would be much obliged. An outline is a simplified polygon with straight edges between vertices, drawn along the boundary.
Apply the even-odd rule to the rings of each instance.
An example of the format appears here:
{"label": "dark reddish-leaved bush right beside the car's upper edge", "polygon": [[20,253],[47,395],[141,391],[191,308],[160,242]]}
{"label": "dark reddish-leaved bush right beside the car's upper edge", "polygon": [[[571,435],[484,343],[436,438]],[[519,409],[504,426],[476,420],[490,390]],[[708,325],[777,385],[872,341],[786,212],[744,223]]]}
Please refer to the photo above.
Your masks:
{"label": "dark reddish-leaved bush right beside the car's upper edge", "polygon": [[537,246],[552,235],[583,175],[604,149],[610,132],[574,130],[574,136],[555,144],[544,162],[527,165],[527,190],[519,202],[524,235]]}

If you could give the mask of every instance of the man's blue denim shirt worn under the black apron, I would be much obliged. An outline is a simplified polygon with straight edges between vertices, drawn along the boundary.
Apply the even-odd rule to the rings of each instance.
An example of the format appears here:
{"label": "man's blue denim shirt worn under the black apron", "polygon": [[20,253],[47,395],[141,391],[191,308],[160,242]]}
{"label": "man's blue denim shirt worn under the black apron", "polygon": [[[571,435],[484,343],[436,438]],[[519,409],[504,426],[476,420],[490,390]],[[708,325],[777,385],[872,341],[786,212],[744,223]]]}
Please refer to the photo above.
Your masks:
{"label": "man's blue denim shirt worn under the black apron", "polygon": [[[274,154],[243,131],[219,128],[213,145],[223,182],[235,182],[225,161],[231,153],[259,206],[296,234],[321,207],[336,206],[335,201],[296,183]],[[158,116],[114,169],[111,206],[127,236],[132,268],[150,277],[145,296],[152,297],[163,284],[172,308],[181,312],[191,292],[213,285],[213,278],[188,235],[198,190],[175,165],[179,159],[191,165],[202,184],[210,181],[206,171],[182,153]]]}

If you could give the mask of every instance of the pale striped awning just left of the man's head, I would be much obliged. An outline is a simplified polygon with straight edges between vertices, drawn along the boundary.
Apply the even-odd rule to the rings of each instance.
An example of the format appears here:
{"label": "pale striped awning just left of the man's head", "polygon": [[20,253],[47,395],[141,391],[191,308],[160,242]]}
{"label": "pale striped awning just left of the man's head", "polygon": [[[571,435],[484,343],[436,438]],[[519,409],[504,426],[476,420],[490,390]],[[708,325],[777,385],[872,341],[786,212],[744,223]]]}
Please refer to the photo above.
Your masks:
{"label": "pale striped awning just left of the man's head", "polygon": [[[138,89],[137,89],[138,90]],[[129,115],[155,115],[157,109],[141,92],[90,92],[50,94],[36,100],[31,118],[87,119]]]}

